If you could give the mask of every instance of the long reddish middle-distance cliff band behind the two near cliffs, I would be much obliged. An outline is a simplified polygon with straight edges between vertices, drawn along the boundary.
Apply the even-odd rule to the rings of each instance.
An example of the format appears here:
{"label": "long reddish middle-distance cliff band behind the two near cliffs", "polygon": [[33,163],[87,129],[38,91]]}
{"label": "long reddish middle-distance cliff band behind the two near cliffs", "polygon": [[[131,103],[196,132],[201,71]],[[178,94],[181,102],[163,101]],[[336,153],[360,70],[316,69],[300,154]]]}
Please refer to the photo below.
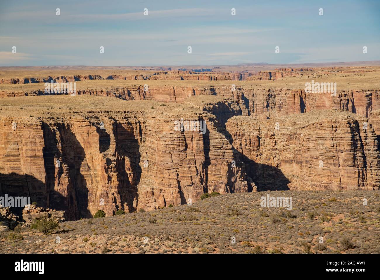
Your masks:
{"label": "long reddish middle-distance cliff band behind the two near cliffs", "polygon": [[[147,82],[148,83],[148,82]],[[156,100],[180,103],[198,95],[217,95],[222,99],[234,99],[241,110],[257,118],[267,119],[276,116],[306,113],[312,110],[347,110],[365,117],[380,109],[379,90],[337,91],[331,93],[307,93],[304,89],[262,88],[249,86],[122,86],[111,89],[80,89],[78,95],[98,95],[118,97],[124,100]],[[58,93],[60,94],[60,93]],[[0,91],[0,97],[51,95],[42,89],[34,91]],[[55,93],[52,93],[55,95]]]}

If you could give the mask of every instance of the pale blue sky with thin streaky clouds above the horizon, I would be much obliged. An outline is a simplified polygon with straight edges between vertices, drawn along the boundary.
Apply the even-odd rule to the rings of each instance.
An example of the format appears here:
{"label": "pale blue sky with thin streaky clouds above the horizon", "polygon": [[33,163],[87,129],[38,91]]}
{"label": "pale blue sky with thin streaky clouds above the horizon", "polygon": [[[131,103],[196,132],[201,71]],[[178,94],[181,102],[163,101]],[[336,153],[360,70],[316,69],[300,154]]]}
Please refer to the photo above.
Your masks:
{"label": "pale blue sky with thin streaky clouds above the horizon", "polygon": [[377,0],[0,2],[2,66],[380,60]]}

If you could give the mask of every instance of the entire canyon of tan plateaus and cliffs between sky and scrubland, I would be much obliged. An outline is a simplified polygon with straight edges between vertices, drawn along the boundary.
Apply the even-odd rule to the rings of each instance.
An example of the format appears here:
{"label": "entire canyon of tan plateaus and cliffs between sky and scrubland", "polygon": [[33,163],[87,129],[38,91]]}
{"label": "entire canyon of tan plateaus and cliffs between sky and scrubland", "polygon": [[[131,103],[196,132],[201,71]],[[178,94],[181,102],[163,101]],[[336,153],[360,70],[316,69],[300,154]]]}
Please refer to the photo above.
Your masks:
{"label": "entire canyon of tan plateaus and cliffs between sky and scrubland", "polygon": [[211,192],[380,188],[380,67],[207,70],[0,68],[0,195],[79,220]]}

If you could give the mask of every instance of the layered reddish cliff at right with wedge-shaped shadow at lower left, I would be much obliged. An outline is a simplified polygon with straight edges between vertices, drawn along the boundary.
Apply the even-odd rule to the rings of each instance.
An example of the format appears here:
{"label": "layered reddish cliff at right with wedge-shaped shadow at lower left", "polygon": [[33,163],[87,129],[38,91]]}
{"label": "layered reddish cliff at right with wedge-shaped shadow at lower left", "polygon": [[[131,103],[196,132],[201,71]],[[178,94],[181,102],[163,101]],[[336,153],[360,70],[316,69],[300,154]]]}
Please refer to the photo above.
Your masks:
{"label": "layered reddish cliff at right with wedge-shaped shadow at lower left", "polygon": [[378,141],[366,121],[323,110],[264,121],[235,116],[226,129],[258,190],[378,189]]}

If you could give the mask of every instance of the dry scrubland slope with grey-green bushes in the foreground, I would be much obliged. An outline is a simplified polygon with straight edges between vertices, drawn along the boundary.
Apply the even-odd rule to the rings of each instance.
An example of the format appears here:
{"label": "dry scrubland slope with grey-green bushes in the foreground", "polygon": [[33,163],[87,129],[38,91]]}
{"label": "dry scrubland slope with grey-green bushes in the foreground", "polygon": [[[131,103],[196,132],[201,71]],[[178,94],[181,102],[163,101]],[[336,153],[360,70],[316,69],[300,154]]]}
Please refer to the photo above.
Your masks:
{"label": "dry scrubland slope with grey-green bushes in the foreground", "polygon": [[[291,196],[293,209],[260,207],[266,194]],[[0,253],[380,253],[379,196],[379,191],[228,194],[192,206],[68,221],[52,234],[30,228],[3,232]]]}

